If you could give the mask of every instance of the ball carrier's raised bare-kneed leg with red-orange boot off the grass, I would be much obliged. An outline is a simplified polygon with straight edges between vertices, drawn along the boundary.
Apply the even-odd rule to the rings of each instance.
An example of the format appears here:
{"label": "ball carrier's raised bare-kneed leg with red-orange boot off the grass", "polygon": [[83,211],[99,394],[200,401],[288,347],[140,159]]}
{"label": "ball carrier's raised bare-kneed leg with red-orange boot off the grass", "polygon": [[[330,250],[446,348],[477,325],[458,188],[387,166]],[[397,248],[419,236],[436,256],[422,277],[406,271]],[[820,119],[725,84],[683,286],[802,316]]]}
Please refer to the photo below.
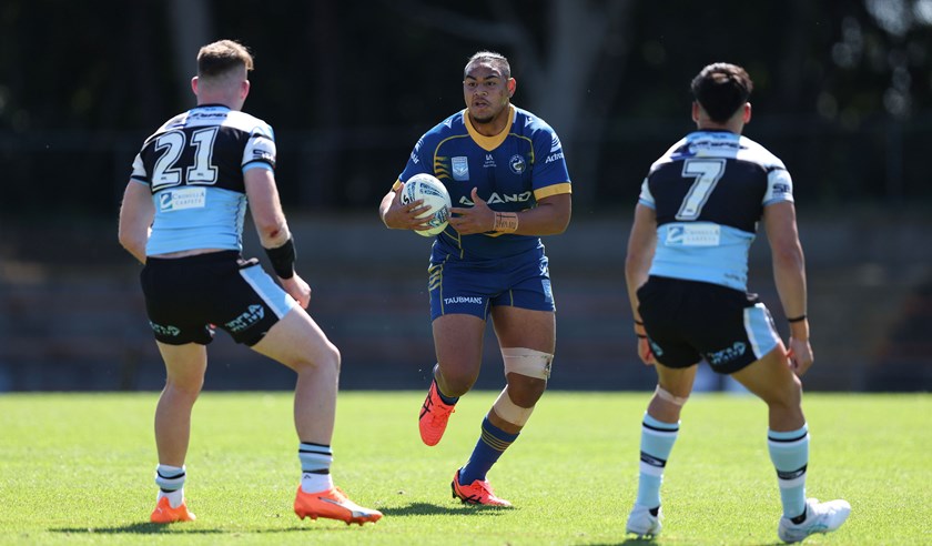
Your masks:
{"label": "ball carrier's raised bare-kneed leg with red-orange boot off the grass", "polygon": [[421,439],[437,445],[459,396],[469,392],[483,362],[485,320],[465,313],[437,316],[433,323],[437,365],[418,415]]}

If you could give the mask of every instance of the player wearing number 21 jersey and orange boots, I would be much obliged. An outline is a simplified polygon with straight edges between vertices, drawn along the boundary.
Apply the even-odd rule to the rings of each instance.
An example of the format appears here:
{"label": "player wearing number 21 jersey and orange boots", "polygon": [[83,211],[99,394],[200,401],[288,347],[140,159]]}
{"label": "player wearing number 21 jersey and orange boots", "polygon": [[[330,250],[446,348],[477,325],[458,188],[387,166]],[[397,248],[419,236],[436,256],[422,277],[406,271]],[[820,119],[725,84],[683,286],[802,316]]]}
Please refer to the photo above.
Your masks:
{"label": "player wearing number 21 jersey and orange boots", "polygon": [[[160,491],[150,519],[194,519],[184,501],[184,459],[215,324],[297,373],[302,479],[295,513],[302,519],[376,522],[378,510],[346,498],[331,478],[340,352],[305,311],[311,289],[294,271],[272,128],[241,111],[252,68],[252,55],[237,42],[201,48],[191,81],[197,105],[145,140],[120,211],[120,243],[144,264],[146,313],[168,372],[155,408]],[[241,256],[247,204],[284,290],[257,260]]]}

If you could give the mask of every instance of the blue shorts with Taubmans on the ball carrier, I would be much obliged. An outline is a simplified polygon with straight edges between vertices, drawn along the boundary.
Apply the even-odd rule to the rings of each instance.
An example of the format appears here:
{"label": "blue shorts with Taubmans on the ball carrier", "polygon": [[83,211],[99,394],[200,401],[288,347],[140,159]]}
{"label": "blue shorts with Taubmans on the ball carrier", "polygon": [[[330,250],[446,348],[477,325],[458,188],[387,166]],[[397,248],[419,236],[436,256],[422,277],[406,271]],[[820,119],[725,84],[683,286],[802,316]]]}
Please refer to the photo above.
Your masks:
{"label": "blue shorts with Taubmans on the ball carrier", "polygon": [[495,305],[554,312],[548,263],[543,246],[482,261],[435,252],[427,269],[430,320],[458,313],[485,321]]}

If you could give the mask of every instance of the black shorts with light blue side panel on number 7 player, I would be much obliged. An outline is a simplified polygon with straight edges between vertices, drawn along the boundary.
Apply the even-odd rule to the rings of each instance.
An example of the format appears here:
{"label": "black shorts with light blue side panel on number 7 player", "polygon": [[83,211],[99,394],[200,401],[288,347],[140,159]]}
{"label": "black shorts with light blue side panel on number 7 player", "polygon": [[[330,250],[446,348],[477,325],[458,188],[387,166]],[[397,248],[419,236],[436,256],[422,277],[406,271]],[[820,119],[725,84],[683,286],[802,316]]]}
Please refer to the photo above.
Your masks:
{"label": "black shorts with light blue side panel on number 7 player", "polygon": [[638,302],[654,356],[667,367],[705,358],[713,372],[732,374],[781,342],[757,294],[651,275],[638,289]]}

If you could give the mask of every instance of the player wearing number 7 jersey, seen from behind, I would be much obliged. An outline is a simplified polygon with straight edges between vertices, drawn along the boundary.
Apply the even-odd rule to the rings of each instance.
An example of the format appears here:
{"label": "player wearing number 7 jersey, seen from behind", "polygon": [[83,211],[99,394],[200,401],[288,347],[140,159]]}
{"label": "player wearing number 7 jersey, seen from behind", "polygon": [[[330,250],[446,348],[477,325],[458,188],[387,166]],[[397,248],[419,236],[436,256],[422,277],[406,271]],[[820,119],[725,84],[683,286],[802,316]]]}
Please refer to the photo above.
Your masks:
{"label": "player wearing number 7 jersey, seen from behind", "polygon": [[[627,532],[660,533],[663,468],[706,360],[767,403],[767,443],[783,508],[778,536],[798,542],[837,529],[851,507],[806,498],[809,429],[800,377],[812,365],[812,348],[792,179],[777,156],[741,135],[751,119],[752,89],[742,68],[710,64],[691,87],[697,131],[650,166],[628,241],[625,270],[638,355],[655,365],[658,381],[641,426],[640,477]],[[747,293],[748,250],[761,220],[790,322],[789,350],[767,307]]]}

